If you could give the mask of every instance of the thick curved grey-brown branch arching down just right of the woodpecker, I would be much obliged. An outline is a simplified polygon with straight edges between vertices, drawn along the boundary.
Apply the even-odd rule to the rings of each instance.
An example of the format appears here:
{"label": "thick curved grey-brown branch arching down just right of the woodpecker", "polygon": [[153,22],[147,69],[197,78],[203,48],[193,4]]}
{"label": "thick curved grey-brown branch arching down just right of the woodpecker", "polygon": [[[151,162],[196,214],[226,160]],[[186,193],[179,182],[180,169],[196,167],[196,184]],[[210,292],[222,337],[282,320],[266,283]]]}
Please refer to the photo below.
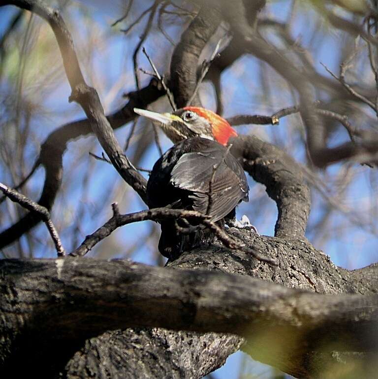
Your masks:
{"label": "thick curved grey-brown branch arching down just right of the woodpecker", "polygon": [[304,238],[311,199],[300,166],[277,146],[257,137],[238,137],[232,143],[232,154],[242,158],[244,169],[266,186],[277,204],[275,236]]}

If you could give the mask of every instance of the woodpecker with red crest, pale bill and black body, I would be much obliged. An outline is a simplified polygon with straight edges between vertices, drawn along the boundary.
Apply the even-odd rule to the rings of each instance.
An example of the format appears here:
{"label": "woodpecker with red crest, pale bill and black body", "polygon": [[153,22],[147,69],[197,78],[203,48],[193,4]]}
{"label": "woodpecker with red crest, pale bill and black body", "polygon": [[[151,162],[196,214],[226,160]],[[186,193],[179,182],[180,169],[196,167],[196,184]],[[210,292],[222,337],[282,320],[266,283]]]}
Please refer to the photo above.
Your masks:
{"label": "woodpecker with red crest, pale bill and black body", "polygon": [[[189,106],[173,113],[134,108],[134,112],[157,123],[175,143],[152,169],[147,205],[196,210],[220,225],[224,220],[233,226],[235,207],[248,201],[249,190],[243,168],[226,147],[229,139],[237,136],[235,130],[221,116],[201,107]],[[197,227],[189,234],[180,234],[175,220],[160,224],[158,248],[170,259],[214,241],[207,229]]]}

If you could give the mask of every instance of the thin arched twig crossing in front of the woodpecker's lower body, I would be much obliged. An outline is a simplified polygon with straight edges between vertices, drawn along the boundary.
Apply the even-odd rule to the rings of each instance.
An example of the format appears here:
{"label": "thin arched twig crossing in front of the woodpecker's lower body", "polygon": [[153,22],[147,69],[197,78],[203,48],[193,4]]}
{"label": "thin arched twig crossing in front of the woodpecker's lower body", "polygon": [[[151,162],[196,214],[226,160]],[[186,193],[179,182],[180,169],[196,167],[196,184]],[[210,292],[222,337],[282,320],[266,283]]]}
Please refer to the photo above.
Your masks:
{"label": "thin arched twig crossing in front of the woodpecker's lower body", "polygon": [[247,254],[250,254],[253,258],[269,263],[270,265],[277,266],[277,261],[272,258],[265,257],[252,248],[246,246],[243,242],[235,241],[233,238],[228,236],[215,222],[211,221],[211,217],[206,214],[202,214],[195,210],[184,210],[184,209],[170,209],[170,208],[153,208],[148,210],[141,210],[140,212],[119,214],[117,206],[113,207],[113,216],[99,229],[95,231],[90,236],[87,236],[82,244],[69,255],[71,256],[84,256],[90,251],[96,243],[102,241],[105,237],[109,236],[118,227],[130,224],[133,222],[152,220],[161,221],[166,219],[189,219],[198,224],[209,228],[223,243],[225,247],[233,250],[242,250]]}

